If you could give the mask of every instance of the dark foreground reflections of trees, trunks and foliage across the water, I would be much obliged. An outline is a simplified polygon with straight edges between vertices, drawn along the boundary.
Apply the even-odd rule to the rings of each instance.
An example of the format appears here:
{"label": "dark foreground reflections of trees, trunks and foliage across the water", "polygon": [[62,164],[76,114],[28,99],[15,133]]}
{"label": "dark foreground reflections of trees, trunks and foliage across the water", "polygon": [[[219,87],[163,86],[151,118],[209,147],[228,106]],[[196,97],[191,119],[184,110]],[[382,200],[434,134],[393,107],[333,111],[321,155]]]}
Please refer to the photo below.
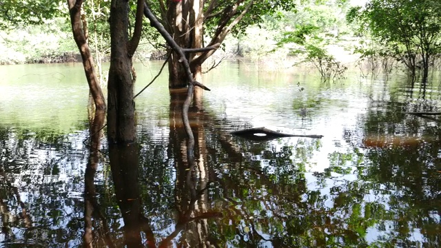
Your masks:
{"label": "dark foreground reflections of trees, trunks and foliage across the water", "polygon": [[[101,144],[99,112],[89,132],[71,135],[1,127],[1,245],[439,246],[440,132],[398,114],[403,105],[371,107],[342,134],[347,151],[315,171],[319,139],[247,141],[202,101],[190,108],[189,161],[183,97],[170,95],[170,125],[141,125],[137,144],[123,147]],[[416,131],[415,143],[363,143]]]}

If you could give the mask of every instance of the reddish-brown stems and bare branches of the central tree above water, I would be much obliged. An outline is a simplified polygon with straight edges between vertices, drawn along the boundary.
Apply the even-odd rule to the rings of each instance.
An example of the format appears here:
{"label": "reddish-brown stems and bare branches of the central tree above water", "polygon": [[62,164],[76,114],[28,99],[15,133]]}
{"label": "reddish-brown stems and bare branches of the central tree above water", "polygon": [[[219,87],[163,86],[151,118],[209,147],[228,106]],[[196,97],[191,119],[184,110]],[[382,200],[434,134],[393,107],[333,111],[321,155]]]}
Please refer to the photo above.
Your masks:
{"label": "reddish-brown stems and bare branches of the central tree above water", "polygon": [[[220,3],[218,1],[205,0],[182,0],[182,1],[167,1],[170,5],[161,7],[161,13],[165,17],[167,32],[172,35],[174,41],[178,43],[181,48],[203,48],[203,23],[209,19],[218,17],[215,21],[215,32],[212,39],[209,41],[207,47],[220,45],[231,32],[232,28],[239,23],[245,14],[254,6],[255,1],[231,1],[228,3]],[[204,12],[204,5],[205,12]],[[196,81],[201,81],[202,64],[209,56],[217,49],[205,50],[198,54],[187,54],[189,67],[192,76]],[[169,87],[185,87],[184,73],[178,66],[179,56],[172,57],[172,62],[169,64]],[[197,92],[198,93],[198,92]],[[196,94],[197,95],[197,94]]]}

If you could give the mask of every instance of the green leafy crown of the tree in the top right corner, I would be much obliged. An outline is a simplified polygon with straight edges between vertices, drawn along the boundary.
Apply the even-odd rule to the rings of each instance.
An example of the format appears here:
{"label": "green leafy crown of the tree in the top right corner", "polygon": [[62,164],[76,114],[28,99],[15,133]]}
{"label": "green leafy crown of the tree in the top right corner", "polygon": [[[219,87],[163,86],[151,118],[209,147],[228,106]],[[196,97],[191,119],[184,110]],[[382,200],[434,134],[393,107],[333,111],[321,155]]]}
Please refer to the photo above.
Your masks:
{"label": "green leafy crown of the tree in the top right corner", "polygon": [[360,29],[387,46],[413,77],[421,68],[427,81],[431,61],[441,49],[440,1],[371,0],[364,8],[353,8],[348,19],[359,21]]}

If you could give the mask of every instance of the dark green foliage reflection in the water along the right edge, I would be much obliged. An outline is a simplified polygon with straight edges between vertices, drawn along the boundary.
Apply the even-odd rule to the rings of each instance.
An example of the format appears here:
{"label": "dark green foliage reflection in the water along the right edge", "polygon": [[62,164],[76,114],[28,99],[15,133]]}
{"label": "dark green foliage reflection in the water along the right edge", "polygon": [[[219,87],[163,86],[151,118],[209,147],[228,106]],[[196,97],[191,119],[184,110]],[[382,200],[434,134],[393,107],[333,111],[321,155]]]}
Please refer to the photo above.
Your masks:
{"label": "dark green foliage reflection in the water along the right edge", "polygon": [[[440,229],[441,224],[436,207],[440,204],[440,177],[435,172],[439,169],[440,132],[438,127],[425,126],[426,121],[402,114],[406,109],[407,105],[384,102],[382,111],[367,112],[363,130],[373,138],[409,134],[421,142],[369,147],[364,167],[357,174],[366,182],[370,201],[380,198],[383,202],[379,213],[370,211],[380,220],[376,223],[378,241],[373,245],[436,247],[440,236],[432,230]],[[426,136],[430,139],[424,141]],[[409,239],[415,232],[424,235],[422,242]]]}

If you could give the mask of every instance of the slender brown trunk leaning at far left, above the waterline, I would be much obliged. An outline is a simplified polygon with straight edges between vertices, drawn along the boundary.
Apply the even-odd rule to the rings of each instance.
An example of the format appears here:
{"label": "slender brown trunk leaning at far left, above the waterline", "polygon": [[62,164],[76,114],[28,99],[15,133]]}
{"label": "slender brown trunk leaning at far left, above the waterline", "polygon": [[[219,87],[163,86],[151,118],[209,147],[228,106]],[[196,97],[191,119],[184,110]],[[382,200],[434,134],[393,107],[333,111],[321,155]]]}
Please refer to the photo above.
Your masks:
{"label": "slender brown trunk leaning at far left, above the waterline", "polygon": [[105,110],[103,92],[101,91],[99,80],[96,76],[94,59],[88,45],[87,24],[85,21],[83,23],[81,22],[82,5],[83,0],[68,0],[72,33],[74,34],[75,43],[81,54],[85,76],[86,79],[88,79],[90,94],[92,94],[92,98],[94,99],[96,110]]}

